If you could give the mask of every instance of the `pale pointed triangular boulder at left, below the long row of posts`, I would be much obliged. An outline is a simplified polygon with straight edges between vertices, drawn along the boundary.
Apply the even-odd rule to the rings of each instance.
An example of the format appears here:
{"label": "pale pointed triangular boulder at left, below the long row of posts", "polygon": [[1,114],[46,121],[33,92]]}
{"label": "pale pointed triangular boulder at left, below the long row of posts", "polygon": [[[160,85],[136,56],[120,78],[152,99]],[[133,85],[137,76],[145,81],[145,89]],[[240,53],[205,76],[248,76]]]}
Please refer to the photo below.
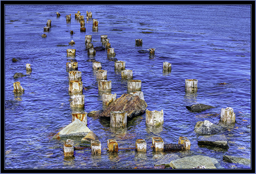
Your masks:
{"label": "pale pointed triangular boulder at left, below the long row of posts", "polygon": [[86,136],[91,130],[81,122],[79,119],[76,119],[66,127],[64,127],[60,132],[53,136],[53,138],[60,139],[60,138],[67,138],[67,137],[84,137]]}

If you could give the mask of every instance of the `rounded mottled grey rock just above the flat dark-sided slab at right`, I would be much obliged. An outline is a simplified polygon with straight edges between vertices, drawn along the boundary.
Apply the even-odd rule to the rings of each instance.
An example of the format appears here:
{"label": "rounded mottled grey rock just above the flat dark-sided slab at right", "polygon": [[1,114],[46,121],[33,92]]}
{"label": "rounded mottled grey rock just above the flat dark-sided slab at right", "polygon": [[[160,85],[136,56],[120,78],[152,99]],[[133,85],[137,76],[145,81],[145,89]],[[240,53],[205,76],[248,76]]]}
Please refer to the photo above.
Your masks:
{"label": "rounded mottled grey rock just above the flat dark-sided slab at right", "polygon": [[213,135],[221,132],[222,127],[214,123],[205,121],[198,121],[194,128],[195,132],[199,135]]}

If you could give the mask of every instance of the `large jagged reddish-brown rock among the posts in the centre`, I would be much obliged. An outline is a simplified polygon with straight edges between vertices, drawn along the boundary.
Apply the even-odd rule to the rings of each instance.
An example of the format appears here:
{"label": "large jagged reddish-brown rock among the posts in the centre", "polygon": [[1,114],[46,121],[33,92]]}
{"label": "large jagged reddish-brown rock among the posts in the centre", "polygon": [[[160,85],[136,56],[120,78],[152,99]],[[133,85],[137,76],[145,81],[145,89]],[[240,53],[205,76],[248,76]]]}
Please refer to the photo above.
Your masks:
{"label": "large jagged reddish-brown rock among the posts in the centre", "polygon": [[141,100],[139,96],[132,96],[130,94],[123,94],[121,97],[112,102],[99,116],[110,117],[111,111],[127,111],[127,117],[132,118],[143,114],[146,110],[147,104]]}

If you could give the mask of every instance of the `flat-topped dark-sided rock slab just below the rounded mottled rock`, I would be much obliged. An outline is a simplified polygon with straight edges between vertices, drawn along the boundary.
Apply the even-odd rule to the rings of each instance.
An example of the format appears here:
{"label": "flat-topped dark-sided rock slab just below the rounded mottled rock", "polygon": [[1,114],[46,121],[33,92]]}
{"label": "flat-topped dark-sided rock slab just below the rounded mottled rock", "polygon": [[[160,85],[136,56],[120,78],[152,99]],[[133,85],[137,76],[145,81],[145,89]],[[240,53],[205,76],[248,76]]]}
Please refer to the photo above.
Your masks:
{"label": "flat-topped dark-sided rock slab just below the rounded mottled rock", "polygon": [[206,135],[198,137],[198,144],[204,144],[209,146],[229,148],[228,140],[225,135]]}

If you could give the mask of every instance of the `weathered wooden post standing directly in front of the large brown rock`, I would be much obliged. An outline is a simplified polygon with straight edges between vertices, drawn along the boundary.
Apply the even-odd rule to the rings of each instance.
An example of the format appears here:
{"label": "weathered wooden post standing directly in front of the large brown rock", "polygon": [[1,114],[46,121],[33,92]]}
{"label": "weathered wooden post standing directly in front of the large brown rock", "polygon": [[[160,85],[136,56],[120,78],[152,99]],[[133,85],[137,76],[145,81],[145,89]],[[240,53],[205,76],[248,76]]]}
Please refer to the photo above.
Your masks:
{"label": "weathered wooden post standing directly in front of the large brown rock", "polygon": [[110,126],[111,127],[126,127],[127,111],[111,111]]}

